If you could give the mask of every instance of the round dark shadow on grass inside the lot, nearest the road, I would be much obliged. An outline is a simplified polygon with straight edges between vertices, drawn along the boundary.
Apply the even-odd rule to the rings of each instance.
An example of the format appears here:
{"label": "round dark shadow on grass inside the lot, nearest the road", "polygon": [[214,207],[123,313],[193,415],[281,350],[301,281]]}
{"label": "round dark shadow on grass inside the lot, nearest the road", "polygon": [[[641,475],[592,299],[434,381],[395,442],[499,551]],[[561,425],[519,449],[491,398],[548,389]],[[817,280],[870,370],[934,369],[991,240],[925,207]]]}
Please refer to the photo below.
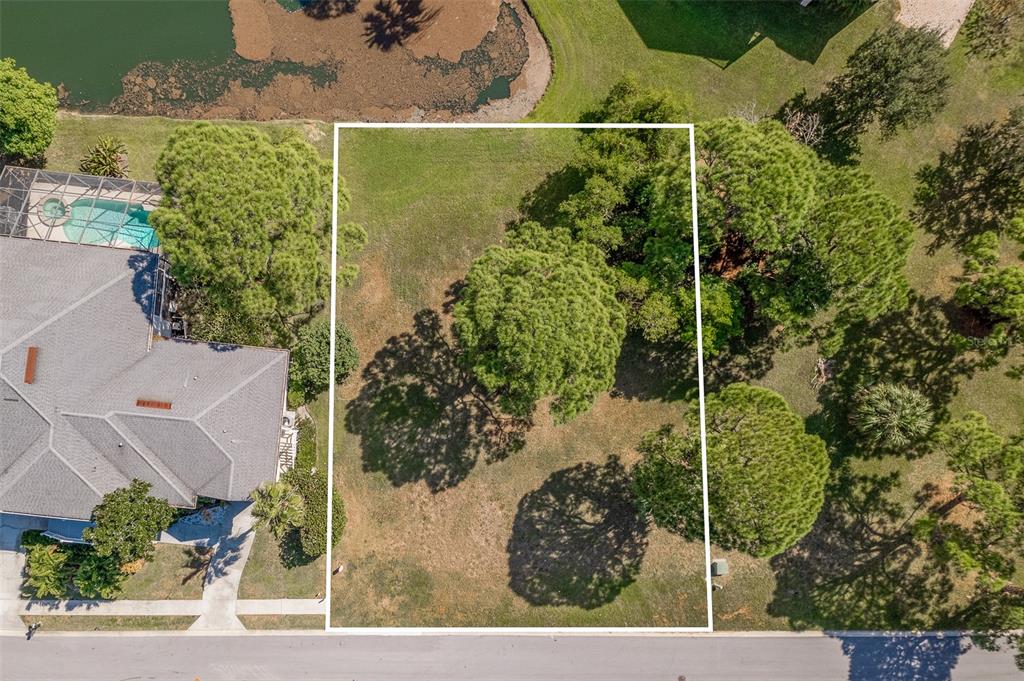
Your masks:
{"label": "round dark shadow on grass inside the lot, nearest the road", "polygon": [[647,522],[618,459],[578,464],[519,500],[509,586],[532,605],[595,608],[636,580],[646,549]]}

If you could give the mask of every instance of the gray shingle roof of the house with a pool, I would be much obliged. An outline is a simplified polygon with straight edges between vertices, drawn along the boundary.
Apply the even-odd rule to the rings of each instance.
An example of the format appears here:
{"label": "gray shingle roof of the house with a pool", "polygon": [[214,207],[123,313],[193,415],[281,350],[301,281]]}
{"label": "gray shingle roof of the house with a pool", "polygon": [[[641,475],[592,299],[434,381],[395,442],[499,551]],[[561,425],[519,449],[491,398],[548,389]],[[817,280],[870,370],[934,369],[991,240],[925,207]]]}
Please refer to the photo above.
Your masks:
{"label": "gray shingle roof of the house with a pool", "polygon": [[158,261],[0,240],[0,510],[85,519],[136,477],[176,506],[273,479],[288,353],[151,340]]}

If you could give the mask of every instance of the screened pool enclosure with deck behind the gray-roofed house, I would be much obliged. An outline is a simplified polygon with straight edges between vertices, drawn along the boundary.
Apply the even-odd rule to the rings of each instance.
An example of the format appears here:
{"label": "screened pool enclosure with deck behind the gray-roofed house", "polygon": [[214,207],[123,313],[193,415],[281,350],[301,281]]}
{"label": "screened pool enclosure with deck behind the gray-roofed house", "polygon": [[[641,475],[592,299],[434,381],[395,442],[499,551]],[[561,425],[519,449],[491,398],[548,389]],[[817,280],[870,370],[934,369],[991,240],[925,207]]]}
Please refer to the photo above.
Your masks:
{"label": "screened pool enclosure with deck behind the gray-roofed house", "polygon": [[7,166],[0,173],[0,237],[155,251],[150,213],[160,185]]}

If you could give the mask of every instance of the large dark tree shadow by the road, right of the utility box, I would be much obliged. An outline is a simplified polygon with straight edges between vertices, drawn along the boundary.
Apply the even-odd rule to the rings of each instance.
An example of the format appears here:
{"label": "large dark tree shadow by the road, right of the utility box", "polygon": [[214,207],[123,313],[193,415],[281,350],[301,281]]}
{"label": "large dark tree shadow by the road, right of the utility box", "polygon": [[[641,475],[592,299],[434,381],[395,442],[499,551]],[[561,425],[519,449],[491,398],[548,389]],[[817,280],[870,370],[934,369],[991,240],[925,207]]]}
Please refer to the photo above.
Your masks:
{"label": "large dark tree shadow by the road, right of the utility box", "polygon": [[797,629],[932,629],[948,615],[948,568],[933,565],[913,541],[911,512],[892,501],[898,473],[834,473],[810,534],[771,559],[775,594],[768,612]]}

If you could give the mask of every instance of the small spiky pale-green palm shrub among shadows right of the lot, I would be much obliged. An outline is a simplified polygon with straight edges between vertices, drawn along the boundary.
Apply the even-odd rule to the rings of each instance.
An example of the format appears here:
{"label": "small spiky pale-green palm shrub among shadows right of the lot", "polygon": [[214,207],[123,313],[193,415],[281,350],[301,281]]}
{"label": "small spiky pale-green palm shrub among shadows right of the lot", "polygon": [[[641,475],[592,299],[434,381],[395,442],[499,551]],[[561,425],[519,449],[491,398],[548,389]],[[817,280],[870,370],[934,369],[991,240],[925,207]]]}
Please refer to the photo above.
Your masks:
{"label": "small spiky pale-green palm shrub among shadows right of the lot", "polygon": [[873,446],[904,448],[932,430],[932,402],[912,388],[892,383],[862,389],[854,405],[853,422]]}

